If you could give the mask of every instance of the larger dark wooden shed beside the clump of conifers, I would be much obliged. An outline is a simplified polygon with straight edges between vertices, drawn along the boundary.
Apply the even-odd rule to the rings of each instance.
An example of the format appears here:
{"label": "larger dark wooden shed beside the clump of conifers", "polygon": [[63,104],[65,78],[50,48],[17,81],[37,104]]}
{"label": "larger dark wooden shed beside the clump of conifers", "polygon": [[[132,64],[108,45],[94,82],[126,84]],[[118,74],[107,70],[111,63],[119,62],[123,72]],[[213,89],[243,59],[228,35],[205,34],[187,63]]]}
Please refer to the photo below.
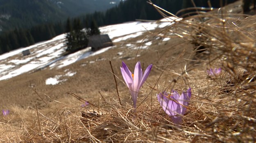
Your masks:
{"label": "larger dark wooden shed beside the clump of conifers", "polygon": [[97,51],[101,48],[105,48],[108,46],[113,46],[109,35],[93,35],[89,38],[88,46],[91,47],[91,51]]}

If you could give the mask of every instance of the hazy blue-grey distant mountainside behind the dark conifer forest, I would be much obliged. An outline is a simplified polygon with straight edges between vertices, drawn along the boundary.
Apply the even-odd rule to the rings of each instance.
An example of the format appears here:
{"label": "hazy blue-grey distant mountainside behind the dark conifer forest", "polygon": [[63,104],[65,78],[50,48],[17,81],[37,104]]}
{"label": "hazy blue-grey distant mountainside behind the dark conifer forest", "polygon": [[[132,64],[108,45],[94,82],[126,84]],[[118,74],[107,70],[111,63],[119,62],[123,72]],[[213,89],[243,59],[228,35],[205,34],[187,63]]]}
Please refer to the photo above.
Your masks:
{"label": "hazy blue-grey distant mountainside behind the dark conifer forest", "polygon": [[104,11],[120,0],[0,0],[0,32]]}

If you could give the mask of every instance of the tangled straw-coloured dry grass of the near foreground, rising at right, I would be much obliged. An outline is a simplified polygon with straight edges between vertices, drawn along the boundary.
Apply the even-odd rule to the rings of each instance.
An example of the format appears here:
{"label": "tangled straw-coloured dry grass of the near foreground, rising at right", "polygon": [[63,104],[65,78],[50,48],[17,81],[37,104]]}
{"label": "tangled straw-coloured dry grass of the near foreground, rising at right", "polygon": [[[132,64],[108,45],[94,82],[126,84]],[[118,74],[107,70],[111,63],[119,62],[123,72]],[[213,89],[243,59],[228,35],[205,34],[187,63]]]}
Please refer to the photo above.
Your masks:
{"label": "tangled straw-coloured dry grass of the near foreground, rising at right", "polygon": [[[255,23],[255,16],[202,13],[152,32],[147,39],[171,37],[177,42],[164,51],[158,47],[154,71],[141,90],[136,112],[127,88],[120,90],[122,106],[112,94],[85,108],[60,104],[58,111],[45,113],[16,108],[1,119],[0,141],[254,143]],[[200,46],[208,50],[198,52]],[[181,52],[172,55],[177,51]],[[210,67],[221,67],[222,73],[209,77]],[[188,87],[190,106],[182,125],[175,125],[159,106],[156,93]]]}

